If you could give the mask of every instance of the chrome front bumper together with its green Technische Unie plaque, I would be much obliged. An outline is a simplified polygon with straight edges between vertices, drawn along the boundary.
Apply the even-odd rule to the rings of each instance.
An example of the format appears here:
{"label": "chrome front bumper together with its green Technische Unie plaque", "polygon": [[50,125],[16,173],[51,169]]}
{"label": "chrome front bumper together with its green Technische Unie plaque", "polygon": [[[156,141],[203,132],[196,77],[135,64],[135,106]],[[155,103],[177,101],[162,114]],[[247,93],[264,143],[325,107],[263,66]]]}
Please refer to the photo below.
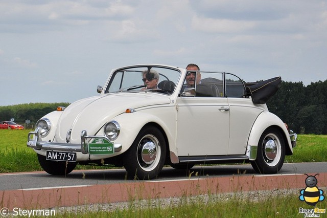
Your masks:
{"label": "chrome front bumper together with its green Technische Unie plaque", "polygon": [[[31,137],[34,136],[34,137]],[[81,152],[90,155],[112,155],[122,149],[121,144],[115,144],[105,136],[87,136],[86,130],[81,132],[81,144],[44,142],[41,138],[41,128],[28,134],[27,146],[35,150],[55,150],[66,152]]]}

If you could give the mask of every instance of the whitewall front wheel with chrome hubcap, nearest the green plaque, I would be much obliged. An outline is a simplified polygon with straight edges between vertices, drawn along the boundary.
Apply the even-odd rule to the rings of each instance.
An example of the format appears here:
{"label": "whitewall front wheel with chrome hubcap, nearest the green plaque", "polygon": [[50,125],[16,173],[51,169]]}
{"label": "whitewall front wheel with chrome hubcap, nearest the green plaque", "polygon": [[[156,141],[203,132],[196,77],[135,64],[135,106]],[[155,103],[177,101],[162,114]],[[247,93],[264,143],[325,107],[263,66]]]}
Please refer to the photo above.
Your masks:
{"label": "whitewall front wheel with chrome hubcap, nearest the green plaque", "polygon": [[124,156],[124,167],[130,179],[156,178],[166,159],[166,141],[154,126],[141,129]]}

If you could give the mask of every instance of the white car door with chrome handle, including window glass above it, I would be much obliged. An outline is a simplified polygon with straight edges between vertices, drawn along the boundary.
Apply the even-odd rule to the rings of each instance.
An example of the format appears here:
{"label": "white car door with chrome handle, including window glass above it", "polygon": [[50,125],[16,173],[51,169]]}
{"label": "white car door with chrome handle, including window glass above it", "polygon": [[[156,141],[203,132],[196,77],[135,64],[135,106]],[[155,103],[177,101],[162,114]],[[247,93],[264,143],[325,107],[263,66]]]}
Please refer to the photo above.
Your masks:
{"label": "white car door with chrome handle, including window glass above it", "polygon": [[[222,86],[222,74],[201,74],[203,82],[197,85],[196,96],[180,96],[176,100],[178,156],[217,156],[228,153],[229,106],[227,98],[221,97],[223,90],[219,90],[215,96],[198,95],[206,83],[220,81]],[[209,79],[204,83],[206,78]]]}

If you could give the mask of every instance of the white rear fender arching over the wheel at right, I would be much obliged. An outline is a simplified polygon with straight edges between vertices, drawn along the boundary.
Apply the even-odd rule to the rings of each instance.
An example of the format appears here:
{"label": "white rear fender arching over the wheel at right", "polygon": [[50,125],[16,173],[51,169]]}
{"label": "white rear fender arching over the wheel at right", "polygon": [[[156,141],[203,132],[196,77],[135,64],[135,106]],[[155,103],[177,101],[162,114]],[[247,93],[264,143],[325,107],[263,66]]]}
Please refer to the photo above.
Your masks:
{"label": "white rear fender arching over the wheel at right", "polygon": [[[276,115],[274,115],[270,112],[267,112],[267,111],[262,112],[258,116],[258,118],[256,118],[256,120],[252,126],[250,136],[248,139],[248,143],[247,143],[247,146],[248,146],[247,152],[250,152],[250,150],[256,150],[255,148],[258,147],[261,135],[268,127],[272,127],[272,126],[277,127],[281,131],[281,133],[284,137],[285,144],[286,144],[286,154],[287,155],[293,154],[291,140],[290,140],[289,133],[288,133],[288,130],[287,130],[284,122]],[[249,155],[249,157],[250,157],[250,160],[255,160],[256,155],[253,156],[253,154],[251,154],[251,155]]]}

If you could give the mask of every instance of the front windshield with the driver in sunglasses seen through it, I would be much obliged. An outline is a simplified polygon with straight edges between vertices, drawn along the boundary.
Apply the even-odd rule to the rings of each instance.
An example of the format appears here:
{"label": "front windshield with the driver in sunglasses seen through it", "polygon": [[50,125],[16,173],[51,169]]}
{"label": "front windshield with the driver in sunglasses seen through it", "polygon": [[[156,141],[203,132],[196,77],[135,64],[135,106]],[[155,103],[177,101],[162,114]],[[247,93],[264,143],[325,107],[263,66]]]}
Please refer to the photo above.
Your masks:
{"label": "front windshield with the driver in sunglasses seen through it", "polygon": [[151,91],[171,95],[179,77],[179,71],[164,67],[120,69],[112,74],[105,93]]}

